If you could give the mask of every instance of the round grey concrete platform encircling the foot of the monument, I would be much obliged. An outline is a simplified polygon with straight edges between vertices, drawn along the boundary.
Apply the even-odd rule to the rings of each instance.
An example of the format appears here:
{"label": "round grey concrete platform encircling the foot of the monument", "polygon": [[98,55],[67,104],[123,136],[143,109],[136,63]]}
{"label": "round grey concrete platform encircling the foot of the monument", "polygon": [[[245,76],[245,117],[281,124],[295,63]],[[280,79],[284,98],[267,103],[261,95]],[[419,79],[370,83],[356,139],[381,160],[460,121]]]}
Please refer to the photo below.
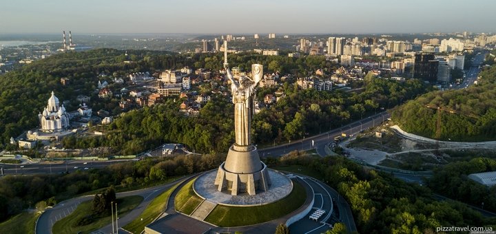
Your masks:
{"label": "round grey concrete platform encircling the foot of the monument", "polygon": [[193,184],[195,193],[201,198],[215,204],[227,206],[258,206],[269,204],[285,198],[293,190],[293,182],[286,175],[269,169],[271,186],[266,192],[256,195],[240,193],[231,195],[229,191],[220,192],[214,185],[217,171],[210,171],[200,175]]}

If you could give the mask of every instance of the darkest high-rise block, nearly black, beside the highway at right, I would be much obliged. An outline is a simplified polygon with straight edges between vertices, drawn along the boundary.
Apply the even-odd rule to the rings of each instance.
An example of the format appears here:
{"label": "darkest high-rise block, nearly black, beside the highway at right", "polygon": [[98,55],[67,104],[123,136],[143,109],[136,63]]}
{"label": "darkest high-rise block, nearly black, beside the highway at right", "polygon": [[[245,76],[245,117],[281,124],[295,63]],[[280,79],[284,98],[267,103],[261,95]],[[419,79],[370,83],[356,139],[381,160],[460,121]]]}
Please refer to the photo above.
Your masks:
{"label": "darkest high-rise block, nearly black, beside the highway at right", "polygon": [[437,65],[434,54],[415,54],[413,65],[413,78],[422,78],[424,81],[435,83],[437,81]]}

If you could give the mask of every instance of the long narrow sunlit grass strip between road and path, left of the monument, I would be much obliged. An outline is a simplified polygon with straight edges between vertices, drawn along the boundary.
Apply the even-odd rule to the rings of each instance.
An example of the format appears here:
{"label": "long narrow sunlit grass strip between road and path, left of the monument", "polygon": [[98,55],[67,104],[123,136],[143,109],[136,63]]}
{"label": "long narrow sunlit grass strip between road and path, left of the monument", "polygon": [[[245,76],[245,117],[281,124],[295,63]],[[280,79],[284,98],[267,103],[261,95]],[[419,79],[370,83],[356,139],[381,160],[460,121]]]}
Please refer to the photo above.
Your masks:
{"label": "long narrow sunlit grass strip between road and path, left of the monument", "polygon": [[143,211],[143,213],[141,213],[136,220],[133,220],[123,228],[132,233],[141,233],[145,230],[145,226],[147,226],[147,224],[151,223],[156,219],[156,217],[158,217],[158,215],[165,211],[167,208],[167,201],[169,200],[171,193],[174,189],[176,189],[176,187],[178,187],[178,185],[179,184],[176,184],[174,187],[163,192],[161,195],[158,195],[148,204],[145,211]]}

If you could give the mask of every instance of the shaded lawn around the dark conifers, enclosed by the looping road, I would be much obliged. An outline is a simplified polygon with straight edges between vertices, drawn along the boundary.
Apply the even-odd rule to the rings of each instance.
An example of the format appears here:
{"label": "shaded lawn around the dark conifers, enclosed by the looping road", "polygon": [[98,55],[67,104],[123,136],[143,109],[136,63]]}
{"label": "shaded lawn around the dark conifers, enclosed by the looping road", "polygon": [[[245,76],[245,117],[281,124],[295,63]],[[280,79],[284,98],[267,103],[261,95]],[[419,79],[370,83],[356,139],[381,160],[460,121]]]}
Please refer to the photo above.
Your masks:
{"label": "shaded lawn around the dark conifers, enclosed by the looping road", "polygon": [[[117,200],[118,215],[123,216],[126,213],[132,211],[136,208],[138,204],[143,201],[141,196],[129,196],[125,198],[119,198]],[[110,224],[112,222],[112,216],[108,213],[108,216],[98,217],[94,222],[84,226],[76,226],[76,222],[92,213],[92,201],[87,201],[79,204],[76,211],[72,212],[67,217],[64,217],[59,222],[56,222],[52,228],[53,233],[91,233],[99,228]]]}

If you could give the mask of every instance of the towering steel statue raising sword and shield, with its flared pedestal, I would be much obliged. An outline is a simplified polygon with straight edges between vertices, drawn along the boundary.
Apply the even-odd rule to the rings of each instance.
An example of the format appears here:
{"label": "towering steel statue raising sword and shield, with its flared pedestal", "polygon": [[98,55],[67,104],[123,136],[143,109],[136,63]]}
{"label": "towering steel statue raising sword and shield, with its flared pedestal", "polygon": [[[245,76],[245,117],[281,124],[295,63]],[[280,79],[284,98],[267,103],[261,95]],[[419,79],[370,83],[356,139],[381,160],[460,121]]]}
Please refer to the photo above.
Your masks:
{"label": "towering steel statue raising sword and shield, with its flared pedestal", "polygon": [[234,78],[227,63],[227,41],[224,42],[224,67],[231,81],[234,103],[234,130],[236,140],[229,148],[227,158],[217,171],[215,185],[218,191],[230,191],[231,195],[267,191],[271,184],[267,166],[260,161],[256,147],[251,145],[251,118],[254,114],[254,94],[263,76],[263,66],[251,65],[251,78]]}

